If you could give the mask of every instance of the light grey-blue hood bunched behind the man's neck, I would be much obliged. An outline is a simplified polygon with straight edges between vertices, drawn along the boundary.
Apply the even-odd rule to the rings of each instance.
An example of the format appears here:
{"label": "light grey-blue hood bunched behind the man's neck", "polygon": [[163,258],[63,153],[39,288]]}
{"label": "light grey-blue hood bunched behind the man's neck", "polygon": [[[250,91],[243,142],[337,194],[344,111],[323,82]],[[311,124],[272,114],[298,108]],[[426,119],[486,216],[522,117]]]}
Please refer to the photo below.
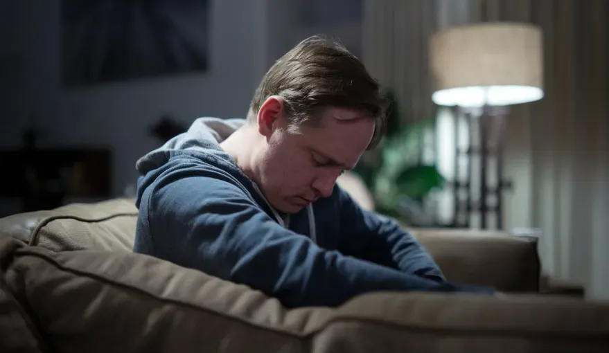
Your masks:
{"label": "light grey-blue hood bunched behind the man's neck", "polygon": [[171,138],[161,147],[138,159],[135,168],[140,175],[144,175],[167,163],[172,152],[180,150],[207,153],[222,152],[220,143],[243,125],[245,125],[245,119],[241,118],[197,118],[187,132]]}

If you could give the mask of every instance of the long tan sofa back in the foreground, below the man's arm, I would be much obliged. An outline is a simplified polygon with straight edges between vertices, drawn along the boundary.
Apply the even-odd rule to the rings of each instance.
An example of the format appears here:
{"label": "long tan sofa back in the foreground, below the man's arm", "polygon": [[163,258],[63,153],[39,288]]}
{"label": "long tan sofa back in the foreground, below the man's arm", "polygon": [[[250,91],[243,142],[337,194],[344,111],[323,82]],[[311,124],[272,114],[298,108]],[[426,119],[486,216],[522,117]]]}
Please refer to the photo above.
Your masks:
{"label": "long tan sofa back in the foreground, below the man's arm", "polygon": [[[1,278],[59,352],[606,352],[609,305],[375,293],[285,309],[248,287],[127,252],[11,248]],[[263,275],[263,274],[261,274]]]}

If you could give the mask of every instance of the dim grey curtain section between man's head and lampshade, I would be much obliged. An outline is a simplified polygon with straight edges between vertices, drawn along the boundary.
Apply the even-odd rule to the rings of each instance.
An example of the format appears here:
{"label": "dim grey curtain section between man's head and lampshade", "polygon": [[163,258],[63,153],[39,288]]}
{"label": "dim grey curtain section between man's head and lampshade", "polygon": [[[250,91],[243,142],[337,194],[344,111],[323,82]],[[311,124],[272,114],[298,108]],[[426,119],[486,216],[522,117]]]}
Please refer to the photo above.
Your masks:
{"label": "dim grey curtain section between man's head and lampshade", "polygon": [[428,38],[436,28],[435,1],[364,0],[362,60],[392,89],[404,123],[430,118]]}

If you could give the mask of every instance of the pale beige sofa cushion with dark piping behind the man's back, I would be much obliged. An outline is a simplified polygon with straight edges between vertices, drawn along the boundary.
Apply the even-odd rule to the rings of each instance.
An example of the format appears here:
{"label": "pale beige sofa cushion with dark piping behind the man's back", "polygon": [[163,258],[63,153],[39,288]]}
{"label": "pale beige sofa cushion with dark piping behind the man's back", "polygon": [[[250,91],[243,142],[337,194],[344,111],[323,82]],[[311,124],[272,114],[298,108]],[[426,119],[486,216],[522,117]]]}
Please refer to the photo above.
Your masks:
{"label": "pale beige sofa cushion with dark piping behind the man's back", "polygon": [[112,199],[4,217],[0,234],[55,251],[132,251],[136,221],[133,199]]}

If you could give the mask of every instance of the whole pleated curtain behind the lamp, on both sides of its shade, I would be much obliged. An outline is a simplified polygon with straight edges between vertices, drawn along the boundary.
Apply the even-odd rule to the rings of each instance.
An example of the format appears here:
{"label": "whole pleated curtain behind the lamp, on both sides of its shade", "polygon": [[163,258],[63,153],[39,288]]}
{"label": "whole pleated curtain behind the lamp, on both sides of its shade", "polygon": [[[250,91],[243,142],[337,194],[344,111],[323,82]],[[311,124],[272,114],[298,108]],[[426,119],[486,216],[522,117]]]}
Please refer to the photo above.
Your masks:
{"label": "whole pleated curtain behind the lamp, on both sides of its shade", "polygon": [[476,21],[538,24],[545,98],[508,123],[505,229],[539,228],[544,271],[609,299],[609,3],[605,0],[367,0],[363,59],[398,92],[407,118],[429,116],[427,41]]}

